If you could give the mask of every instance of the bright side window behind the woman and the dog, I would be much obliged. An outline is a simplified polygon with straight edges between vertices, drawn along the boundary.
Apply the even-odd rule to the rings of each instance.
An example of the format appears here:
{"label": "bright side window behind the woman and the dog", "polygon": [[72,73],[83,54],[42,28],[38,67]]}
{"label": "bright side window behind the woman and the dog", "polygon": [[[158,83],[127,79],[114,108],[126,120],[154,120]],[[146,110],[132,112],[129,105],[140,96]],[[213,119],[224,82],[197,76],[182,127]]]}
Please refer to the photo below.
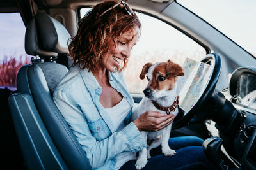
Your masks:
{"label": "bright side window behind the woman and the dog", "polygon": [[[83,17],[88,10],[90,8],[81,8],[80,16]],[[143,13],[137,15],[142,25],[141,36],[124,71],[130,93],[143,93],[147,79],[140,80],[139,75],[147,62],[166,62],[170,59],[182,66],[186,58],[200,61],[205,56],[202,46],[171,25]]]}

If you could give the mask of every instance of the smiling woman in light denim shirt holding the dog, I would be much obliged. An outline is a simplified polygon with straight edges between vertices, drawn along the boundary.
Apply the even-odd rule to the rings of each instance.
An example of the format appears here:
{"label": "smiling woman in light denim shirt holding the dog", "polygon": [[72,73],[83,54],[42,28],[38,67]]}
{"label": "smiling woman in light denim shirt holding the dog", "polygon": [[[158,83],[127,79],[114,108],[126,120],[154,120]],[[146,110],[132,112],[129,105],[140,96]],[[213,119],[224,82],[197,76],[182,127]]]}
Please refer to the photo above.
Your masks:
{"label": "smiling woman in light denim shirt holding the dog", "polygon": [[[93,169],[135,169],[133,152],[147,146],[140,131],[157,131],[174,118],[172,114],[148,111],[131,122],[134,101],[122,70],[140,37],[140,29],[138,17],[126,3],[106,1],[86,14],[70,42],[74,64],[55,90],[54,102]],[[161,168],[163,162],[174,168],[205,166],[202,139],[172,138],[170,143],[177,154],[164,157],[155,153],[158,156],[148,160],[145,169],[153,164]],[[183,153],[191,154],[193,159],[186,160],[188,156]],[[181,162],[177,164],[177,160]]]}

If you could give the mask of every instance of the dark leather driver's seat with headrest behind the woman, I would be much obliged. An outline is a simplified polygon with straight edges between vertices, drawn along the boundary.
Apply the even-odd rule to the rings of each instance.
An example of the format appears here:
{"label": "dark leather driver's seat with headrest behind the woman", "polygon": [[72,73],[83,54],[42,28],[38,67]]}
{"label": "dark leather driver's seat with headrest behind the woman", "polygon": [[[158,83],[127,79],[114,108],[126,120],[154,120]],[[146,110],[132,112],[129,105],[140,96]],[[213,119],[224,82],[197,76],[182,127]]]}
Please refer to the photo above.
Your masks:
{"label": "dark leather driver's seat with headrest behind the woman", "polygon": [[37,58],[20,68],[19,93],[10,96],[9,106],[28,169],[92,169],[52,100],[68,69],[41,60],[68,53],[68,38],[65,27],[45,13],[36,14],[26,29],[26,52]]}

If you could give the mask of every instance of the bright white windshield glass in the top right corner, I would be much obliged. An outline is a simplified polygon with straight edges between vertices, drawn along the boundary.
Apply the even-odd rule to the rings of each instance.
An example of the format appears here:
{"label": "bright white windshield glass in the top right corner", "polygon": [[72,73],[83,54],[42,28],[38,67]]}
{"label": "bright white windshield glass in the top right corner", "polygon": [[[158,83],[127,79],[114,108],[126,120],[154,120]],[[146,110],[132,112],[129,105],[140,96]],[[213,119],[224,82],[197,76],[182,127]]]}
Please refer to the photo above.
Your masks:
{"label": "bright white windshield glass in the top right corner", "polygon": [[256,57],[255,0],[177,0]]}

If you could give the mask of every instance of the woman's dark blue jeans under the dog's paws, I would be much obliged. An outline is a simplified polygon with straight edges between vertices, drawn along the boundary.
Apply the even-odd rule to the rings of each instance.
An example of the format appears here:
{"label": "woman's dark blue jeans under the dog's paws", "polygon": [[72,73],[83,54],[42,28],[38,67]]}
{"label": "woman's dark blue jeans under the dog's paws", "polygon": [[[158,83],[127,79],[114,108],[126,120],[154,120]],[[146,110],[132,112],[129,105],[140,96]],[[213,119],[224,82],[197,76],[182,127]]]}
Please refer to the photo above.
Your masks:
{"label": "woman's dark blue jeans under the dog's paws", "polygon": [[[206,159],[202,148],[204,141],[196,136],[180,136],[169,139],[169,146],[176,151],[171,157],[165,157],[161,146],[151,150],[151,158],[148,159],[143,169],[214,169]],[[123,169],[136,169],[136,160],[126,162]]]}

